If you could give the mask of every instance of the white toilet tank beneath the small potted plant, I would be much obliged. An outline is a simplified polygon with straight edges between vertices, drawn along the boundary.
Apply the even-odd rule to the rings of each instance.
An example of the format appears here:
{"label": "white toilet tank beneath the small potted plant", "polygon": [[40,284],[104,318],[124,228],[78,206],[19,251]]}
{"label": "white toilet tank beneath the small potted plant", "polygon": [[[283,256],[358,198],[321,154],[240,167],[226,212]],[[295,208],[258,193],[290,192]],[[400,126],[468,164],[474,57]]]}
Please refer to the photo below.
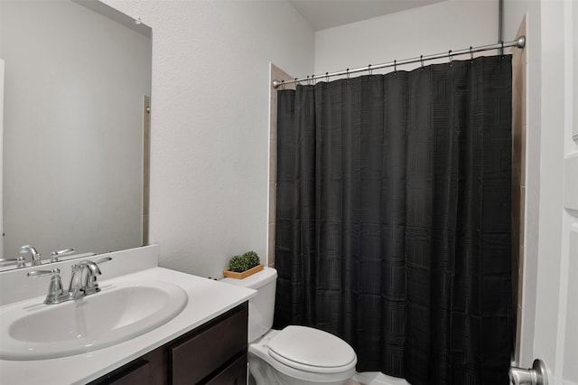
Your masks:
{"label": "white toilet tank beneath the small potted plant", "polygon": [[247,341],[248,343],[253,343],[273,326],[277,270],[275,268],[264,268],[243,279],[222,278],[220,281],[256,290],[256,296],[249,299]]}

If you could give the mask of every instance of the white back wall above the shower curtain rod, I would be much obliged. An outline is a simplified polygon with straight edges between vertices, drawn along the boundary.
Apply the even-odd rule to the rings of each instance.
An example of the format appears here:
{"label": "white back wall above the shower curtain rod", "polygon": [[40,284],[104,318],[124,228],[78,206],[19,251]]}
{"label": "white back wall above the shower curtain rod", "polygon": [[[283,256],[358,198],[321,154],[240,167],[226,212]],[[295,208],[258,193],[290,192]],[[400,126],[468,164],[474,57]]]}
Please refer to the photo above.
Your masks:
{"label": "white back wall above the shower curtain rod", "polygon": [[[498,40],[497,0],[447,0],[316,33],[315,73],[494,44]],[[399,69],[417,66],[419,63]],[[295,74],[300,75],[307,74]]]}

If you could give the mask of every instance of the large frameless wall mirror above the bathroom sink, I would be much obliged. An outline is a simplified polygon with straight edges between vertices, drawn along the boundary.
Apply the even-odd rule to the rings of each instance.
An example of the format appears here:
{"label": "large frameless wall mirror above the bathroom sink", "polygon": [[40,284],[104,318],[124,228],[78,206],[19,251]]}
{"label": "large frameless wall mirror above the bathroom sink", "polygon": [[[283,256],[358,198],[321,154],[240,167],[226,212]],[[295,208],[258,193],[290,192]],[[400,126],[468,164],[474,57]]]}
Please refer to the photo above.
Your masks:
{"label": "large frameless wall mirror above the bathroom sink", "polygon": [[0,59],[0,268],[23,245],[45,263],[147,244],[150,28],[96,0],[3,0]]}

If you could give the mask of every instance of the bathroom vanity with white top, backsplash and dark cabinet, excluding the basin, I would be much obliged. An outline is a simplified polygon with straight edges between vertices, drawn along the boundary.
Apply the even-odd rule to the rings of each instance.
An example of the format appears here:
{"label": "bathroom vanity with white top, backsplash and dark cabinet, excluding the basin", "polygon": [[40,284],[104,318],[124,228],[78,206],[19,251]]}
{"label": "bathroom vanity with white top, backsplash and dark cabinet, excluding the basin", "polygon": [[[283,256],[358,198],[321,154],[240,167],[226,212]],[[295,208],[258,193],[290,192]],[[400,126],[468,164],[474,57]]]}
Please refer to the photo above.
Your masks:
{"label": "bathroom vanity with white top, backsplash and dark cabinet, excluding the basin", "polygon": [[[89,348],[89,352],[54,358],[0,360],[0,383],[246,383],[247,301],[255,295],[254,290],[239,290],[205,277],[159,268],[157,246],[109,253],[107,256],[112,260],[100,267],[102,276],[98,281],[101,292],[92,298],[114,298],[113,290],[126,285],[169,284],[182,288],[186,293],[187,302],[182,311],[153,330],[97,350]],[[67,272],[71,263],[67,261],[51,266],[61,269],[64,283],[68,282]],[[0,277],[0,312],[4,315],[6,312],[20,312],[20,309],[24,313],[33,313],[46,309],[44,306],[63,305],[42,304],[49,279],[26,277],[30,269],[14,270]],[[151,299],[150,303],[153,305],[154,300]],[[59,307],[51,309],[58,310]],[[117,312],[115,306],[110,306],[110,312]],[[1,327],[4,331],[7,325]],[[58,327],[47,318],[41,329],[49,333]],[[0,340],[0,348],[2,344]],[[58,343],[53,346],[58,352]]]}

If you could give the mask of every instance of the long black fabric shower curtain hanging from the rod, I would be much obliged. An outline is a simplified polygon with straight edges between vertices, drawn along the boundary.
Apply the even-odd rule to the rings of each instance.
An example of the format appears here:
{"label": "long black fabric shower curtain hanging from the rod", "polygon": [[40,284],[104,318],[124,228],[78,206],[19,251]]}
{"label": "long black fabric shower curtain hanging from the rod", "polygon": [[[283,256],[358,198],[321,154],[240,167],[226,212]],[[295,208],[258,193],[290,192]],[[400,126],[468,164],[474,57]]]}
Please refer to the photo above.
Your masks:
{"label": "long black fabric shower curtain hanging from the rod", "polygon": [[275,327],[413,385],[508,384],[511,58],[277,99]]}

